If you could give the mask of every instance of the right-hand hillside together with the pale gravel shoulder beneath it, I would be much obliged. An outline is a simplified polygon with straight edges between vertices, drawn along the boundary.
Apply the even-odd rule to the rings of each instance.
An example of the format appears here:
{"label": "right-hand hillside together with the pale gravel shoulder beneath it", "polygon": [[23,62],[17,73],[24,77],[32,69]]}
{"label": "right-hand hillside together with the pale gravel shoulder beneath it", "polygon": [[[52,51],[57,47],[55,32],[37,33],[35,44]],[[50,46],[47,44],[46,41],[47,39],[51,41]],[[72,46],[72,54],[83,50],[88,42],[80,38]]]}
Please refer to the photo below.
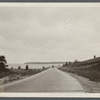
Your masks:
{"label": "right-hand hillside together with the pale gravel shoulder beneath it", "polygon": [[100,58],[73,63],[58,69],[69,72],[86,91],[100,93]]}

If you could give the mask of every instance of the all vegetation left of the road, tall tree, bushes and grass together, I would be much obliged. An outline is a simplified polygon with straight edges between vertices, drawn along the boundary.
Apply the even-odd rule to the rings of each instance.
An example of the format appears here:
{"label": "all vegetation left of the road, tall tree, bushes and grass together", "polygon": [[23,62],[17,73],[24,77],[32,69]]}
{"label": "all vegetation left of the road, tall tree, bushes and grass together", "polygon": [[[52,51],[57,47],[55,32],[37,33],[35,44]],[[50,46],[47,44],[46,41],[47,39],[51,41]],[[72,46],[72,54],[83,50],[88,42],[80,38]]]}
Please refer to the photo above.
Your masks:
{"label": "all vegetation left of the road, tall tree, bushes and grass together", "polygon": [[[22,69],[21,66],[18,66],[18,69],[14,69],[13,67],[11,67],[10,69],[6,68],[6,66],[7,61],[5,56],[0,56],[0,84],[6,84],[14,80],[22,79],[48,69],[45,67],[41,69],[29,69],[28,65],[26,65],[25,69]],[[3,81],[1,81],[2,78]]]}

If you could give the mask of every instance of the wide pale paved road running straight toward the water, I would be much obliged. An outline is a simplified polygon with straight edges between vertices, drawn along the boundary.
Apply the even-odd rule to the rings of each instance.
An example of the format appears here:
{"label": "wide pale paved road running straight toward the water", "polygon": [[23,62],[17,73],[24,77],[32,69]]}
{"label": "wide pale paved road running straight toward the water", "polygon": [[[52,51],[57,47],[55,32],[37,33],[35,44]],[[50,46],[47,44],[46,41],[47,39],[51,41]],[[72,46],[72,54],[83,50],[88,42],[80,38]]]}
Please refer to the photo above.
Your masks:
{"label": "wide pale paved road running straight toward the water", "polygon": [[10,84],[3,85],[4,92],[84,92],[80,83],[68,73],[50,68]]}

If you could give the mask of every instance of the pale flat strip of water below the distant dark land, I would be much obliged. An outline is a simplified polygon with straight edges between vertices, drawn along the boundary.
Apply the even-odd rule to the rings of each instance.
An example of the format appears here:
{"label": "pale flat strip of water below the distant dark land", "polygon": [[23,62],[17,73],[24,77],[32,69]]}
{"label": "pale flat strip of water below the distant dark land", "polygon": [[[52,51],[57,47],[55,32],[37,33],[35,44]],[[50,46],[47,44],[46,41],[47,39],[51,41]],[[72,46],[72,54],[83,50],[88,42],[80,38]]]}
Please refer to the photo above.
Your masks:
{"label": "pale flat strip of water below the distant dark land", "polygon": [[61,66],[62,64],[8,64],[8,68],[13,67],[14,69],[18,68],[18,66],[21,66],[21,68],[25,69],[26,65],[29,66],[30,69],[34,69],[34,68],[42,68],[44,67],[51,67],[52,65],[54,66]]}

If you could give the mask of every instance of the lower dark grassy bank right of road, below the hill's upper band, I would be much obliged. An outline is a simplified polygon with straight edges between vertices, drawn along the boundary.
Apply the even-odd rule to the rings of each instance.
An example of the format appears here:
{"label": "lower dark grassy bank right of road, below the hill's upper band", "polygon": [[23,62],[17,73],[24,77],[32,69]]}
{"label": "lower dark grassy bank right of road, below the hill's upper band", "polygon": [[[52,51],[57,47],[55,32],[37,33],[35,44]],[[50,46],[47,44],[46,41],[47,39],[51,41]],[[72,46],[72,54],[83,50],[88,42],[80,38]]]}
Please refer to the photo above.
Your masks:
{"label": "lower dark grassy bank right of road, below the hill's upper band", "polygon": [[88,78],[91,81],[100,82],[100,63],[95,65],[84,65],[78,67],[60,67],[62,71],[77,74],[79,76]]}

